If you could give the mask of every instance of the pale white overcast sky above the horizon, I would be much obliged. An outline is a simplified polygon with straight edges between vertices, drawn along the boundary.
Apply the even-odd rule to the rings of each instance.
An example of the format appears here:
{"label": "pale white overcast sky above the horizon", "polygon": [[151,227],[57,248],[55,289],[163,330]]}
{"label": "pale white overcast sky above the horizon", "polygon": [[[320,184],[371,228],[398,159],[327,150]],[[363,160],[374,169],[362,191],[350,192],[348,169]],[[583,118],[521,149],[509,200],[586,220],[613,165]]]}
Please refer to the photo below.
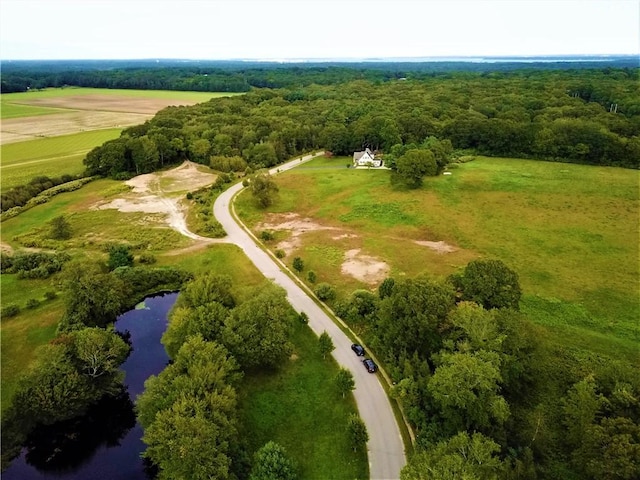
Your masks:
{"label": "pale white overcast sky above the horizon", "polygon": [[640,53],[640,0],[0,0],[0,59]]}

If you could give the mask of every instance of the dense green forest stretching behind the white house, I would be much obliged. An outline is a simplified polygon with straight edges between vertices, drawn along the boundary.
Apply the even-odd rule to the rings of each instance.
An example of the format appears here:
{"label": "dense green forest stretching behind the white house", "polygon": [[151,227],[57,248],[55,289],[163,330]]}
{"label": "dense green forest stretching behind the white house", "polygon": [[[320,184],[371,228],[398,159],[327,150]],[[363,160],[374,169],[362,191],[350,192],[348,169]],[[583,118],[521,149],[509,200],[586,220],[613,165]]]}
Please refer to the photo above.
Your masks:
{"label": "dense green forest stretching behind the white house", "polygon": [[390,153],[435,137],[467,153],[638,168],[639,134],[637,71],[450,73],[256,89],[169,107],[91,151],[85,164],[89,175],[114,178],[184,158],[260,168],[313,149]]}

